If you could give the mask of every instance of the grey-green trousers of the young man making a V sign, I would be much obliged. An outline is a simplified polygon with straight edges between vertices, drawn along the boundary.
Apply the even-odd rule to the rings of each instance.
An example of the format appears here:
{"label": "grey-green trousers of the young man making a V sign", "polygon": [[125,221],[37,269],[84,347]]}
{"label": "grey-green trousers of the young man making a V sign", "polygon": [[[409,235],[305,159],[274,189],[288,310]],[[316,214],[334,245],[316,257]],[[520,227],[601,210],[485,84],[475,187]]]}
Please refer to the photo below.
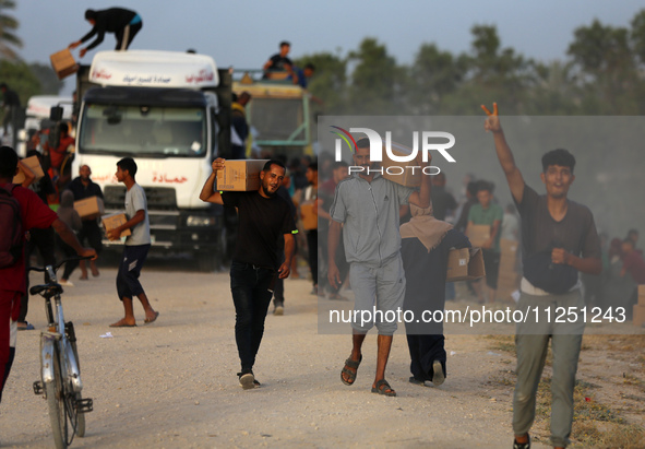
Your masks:
{"label": "grey-green trousers of the young man making a V sign", "polygon": [[[535,420],[536,393],[549,339],[553,355],[551,377],[551,444],[566,447],[573,423],[573,389],[585,322],[582,316],[564,316],[566,322],[554,322],[560,316],[558,307],[584,307],[580,291],[564,295],[534,296],[522,293],[517,309],[531,312],[527,322],[516,327],[515,347],[517,352],[517,382],[513,395],[513,432],[515,435],[528,433]],[[536,320],[535,307],[539,315]],[[550,317],[547,308],[550,307]],[[561,316],[562,317],[562,316]],[[550,319],[549,319],[550,318]],[[569,320],[573,321],[570,322]]]}

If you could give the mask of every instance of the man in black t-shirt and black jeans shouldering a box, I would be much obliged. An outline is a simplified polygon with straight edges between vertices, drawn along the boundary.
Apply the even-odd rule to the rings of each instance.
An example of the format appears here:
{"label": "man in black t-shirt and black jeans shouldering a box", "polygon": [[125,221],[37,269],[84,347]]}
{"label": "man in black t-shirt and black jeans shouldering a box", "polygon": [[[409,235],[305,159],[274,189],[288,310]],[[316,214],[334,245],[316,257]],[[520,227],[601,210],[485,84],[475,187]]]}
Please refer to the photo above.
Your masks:
{"label": "man in black t-shirt and black jeans shouldering a box", "polygon": [[[289,276],[297,233],[289,204],[276,194],[286,168],[268,161],[260,172],[260,187],[254,191],[214,191],[217,170],[225,159],[213,161],[213,173],[204,184],[200,199],[238,209],[239,225],[236,249],[230,265],[230,291],[236,309],[235,338],[242,369],[238,373],[244,390],[260,386],[253,376],[253,364],[264,333],[264,319],[273,296],[276,276]],[[285,241],[280,261],[278,238]],[[280,263],[282,262],[282,263]]]}

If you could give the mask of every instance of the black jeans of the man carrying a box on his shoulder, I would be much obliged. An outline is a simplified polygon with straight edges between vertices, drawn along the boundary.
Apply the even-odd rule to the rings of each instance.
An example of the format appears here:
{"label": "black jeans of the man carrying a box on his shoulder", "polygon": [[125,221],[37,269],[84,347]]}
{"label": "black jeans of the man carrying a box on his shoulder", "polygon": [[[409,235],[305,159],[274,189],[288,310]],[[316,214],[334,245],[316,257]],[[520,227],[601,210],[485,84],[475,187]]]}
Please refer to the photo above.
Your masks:
{"label": "black jeans of the man carrying a box on his shoulder", "polygon": [[271,304],[277,274],[270,268],[234,261],[230,264],[230,292],[235,304],[235,340],[242,373],[250,373],[264,334],[264,319]]}

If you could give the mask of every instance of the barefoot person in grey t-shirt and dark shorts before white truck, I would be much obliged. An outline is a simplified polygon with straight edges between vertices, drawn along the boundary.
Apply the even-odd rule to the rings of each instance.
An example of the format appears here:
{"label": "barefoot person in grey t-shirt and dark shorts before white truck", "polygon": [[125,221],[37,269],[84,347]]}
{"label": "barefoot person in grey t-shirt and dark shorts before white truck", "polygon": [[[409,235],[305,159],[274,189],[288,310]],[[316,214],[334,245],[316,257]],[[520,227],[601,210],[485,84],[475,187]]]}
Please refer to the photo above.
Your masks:
{"label": "barefoot person in grey t-shirt and dark shorts before white truck", "polygon": [[148,324],[159,316],[159,312],[155,311],[150,305],[143,286],[139,282],[141,269],[150,250],[151,238],[145,191],[136,184],[134,175],[136,175],[136,163],[132,157],[124,157],[117,163],[117,180],[123,182],[128,189],[126,193],[126,216],[128,221],[121,226],[108,231],[108,238],[117,240],[126,229],[130,229],[132,234],[127,238],[123,246],[123,258],[117,274],[117,294],[123,303],[126,316],[110,324],[110,328],[132,328],[136,326],[132,307],[134,296],[139,298],[145,310],[144,323]]}

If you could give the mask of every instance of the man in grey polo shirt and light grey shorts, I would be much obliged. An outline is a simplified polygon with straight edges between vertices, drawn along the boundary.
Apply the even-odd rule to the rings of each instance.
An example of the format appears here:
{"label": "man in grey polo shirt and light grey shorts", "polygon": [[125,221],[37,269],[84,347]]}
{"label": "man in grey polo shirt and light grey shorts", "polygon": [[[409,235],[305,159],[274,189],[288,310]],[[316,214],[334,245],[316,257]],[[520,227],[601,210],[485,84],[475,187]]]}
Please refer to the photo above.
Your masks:
{"label": "man in grey polo shirt and light grey shorts", "polygon": [[[430,155],[429,155],[430,158]],[[417,165],[429,165],[421,161]],[[329,233],[329,271],[332,288],[341,283],[341,273],[335,263],[341,229],[345,243],[345,255],[350,263],[349,281],[355,294],[355,317],[353,320],[353,350],[341,373],[345,385],[353,385],[362,359],[361,346],[367,332],[375,324],[379,330],[377,376],[372,392],[389,397],[396,392],[385,380],[385,366],[390,356],[396,320],[379,319],[358,322],[361,311],[379,310],[385,317],[396,311],[405,296],[405,273],[401,259],[401,234],[398,233],[398,209],[401,204],[413,203],[419,208],[430,205],[430,176],[421,175],[420,191],[399,186],[383,178],[378,165],[370,159],[369,139],[356,143],[355,166],[362,172],[341,181],[336,187],[334,203],[330,210],[332,222]],[[391,316],[392,314],[390,314]]]}

